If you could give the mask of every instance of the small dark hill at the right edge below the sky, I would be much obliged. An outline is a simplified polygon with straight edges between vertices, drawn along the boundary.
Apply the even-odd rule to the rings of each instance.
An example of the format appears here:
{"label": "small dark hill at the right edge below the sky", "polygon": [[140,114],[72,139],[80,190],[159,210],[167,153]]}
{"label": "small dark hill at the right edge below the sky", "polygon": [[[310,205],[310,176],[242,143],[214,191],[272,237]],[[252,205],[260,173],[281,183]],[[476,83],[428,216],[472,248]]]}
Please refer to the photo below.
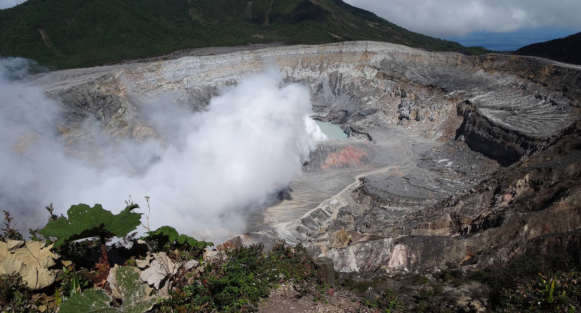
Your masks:
{"label": "small dark hill at the right edge below the sky", "polygon": [[517,55],[540,56],[560,62],[581,64],[581,33],[523,46],[514,53]]}

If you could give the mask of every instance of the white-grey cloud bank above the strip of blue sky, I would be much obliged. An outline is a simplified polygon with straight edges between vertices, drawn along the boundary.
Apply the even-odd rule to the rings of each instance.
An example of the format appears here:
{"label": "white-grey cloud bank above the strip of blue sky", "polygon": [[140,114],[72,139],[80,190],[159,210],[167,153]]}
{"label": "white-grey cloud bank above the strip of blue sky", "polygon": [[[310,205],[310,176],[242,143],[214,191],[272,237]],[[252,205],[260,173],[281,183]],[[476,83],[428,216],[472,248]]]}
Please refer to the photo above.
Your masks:
{"label": "white-grey cloud bank above the strip of blue sky", "polygon": [[581,31],[579,0],[345,0],[417,33],[436,37],[472,31],[554,27]]}

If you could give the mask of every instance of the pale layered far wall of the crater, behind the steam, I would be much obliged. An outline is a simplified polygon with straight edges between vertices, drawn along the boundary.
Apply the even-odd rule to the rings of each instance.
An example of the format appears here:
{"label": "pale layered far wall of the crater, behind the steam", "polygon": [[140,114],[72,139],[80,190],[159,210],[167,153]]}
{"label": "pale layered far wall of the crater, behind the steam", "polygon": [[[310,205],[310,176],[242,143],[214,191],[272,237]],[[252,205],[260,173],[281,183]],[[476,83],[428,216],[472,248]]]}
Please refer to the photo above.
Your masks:
{"label": "pale layered far wall of the crater, behind the steam", "polygon": [[76,116],[98,117],[109,134],[144,138],[156,136],[141,114],[144,103],[171,95],[184,109],[201,110],[221,87],[265,64],[277,64],[286,81],[309,86],[315,114],[328,121],[351,124],[381,116],[426,137],[464,139],[473,150],[505,165],[571,125],[580,107],[578,67],[380,42],[68,70],[38,75],[34,82],[60,96]]}

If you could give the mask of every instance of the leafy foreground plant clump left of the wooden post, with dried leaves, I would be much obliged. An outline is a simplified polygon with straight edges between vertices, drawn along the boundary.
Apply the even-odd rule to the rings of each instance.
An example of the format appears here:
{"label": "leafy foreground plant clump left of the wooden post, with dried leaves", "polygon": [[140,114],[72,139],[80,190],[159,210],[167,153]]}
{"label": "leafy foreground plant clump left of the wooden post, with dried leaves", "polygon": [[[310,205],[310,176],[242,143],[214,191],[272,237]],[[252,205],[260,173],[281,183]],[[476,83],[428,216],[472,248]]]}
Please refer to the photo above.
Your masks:
{"label": "leafy foreground plant clump left of the wooden post, with dried leaves", "polygon": [[[58,217],[51,204],[46,207],[48,223],[30,229],[32,238],[26,243],[5,211],[2,256],[12,261],[10,253],[16,253],[26,262],[40,264],[41,272],[56,274],[55,268],[62,269],[54,282],[33,290],[23,281],[25,274],[10,273],[11,262],[0,263],[0,272],[9,273],[0,275],[0,311],[254,312],[261,299],[282,283],[294,284],[299,296],[319,298],[326,292],[313,258],[301,244],[277,242],[268,253],[263,244],[209,251],[206,247],[213,243],[180,235],[171,226],[148,231],[137,240],[133,231],[142,215],[134,212],[138,208],[129,200],[121,213],[113,214],[100,204],[78,204],[67,216]],[[116,237],[120,240],[112,242]],[[41,251],[32,251],[30,258],[28,244],[38,247],[41,240],[51,246],[41,244]],[[49,256],[48,249],[58,256]]]}

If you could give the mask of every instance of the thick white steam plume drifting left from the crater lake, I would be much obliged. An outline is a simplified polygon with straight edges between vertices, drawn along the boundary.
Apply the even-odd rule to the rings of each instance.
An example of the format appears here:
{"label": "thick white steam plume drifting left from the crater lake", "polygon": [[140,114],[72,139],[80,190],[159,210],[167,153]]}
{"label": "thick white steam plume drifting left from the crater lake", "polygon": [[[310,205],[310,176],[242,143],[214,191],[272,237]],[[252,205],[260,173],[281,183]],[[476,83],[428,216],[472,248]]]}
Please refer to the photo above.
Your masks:
{"label": "thick white steam plume drifting left from the crater lake", "polygon": [[0,59],[0,206],[26,227],[44,225],[48,203],[59,213],[77,203],[101,203],[116,213],[132,195],[142,212],[144,197],[151,197],[151,228],[241,231],[248,211],[299,177],[325,139],[309,117],[309,89],[283,86],[279,70],[270,68],[225,87],[200,113],[153,111],[152,125],[172,129],[164,142],[115,142],[87,119],[84,131],[108,147],[89,162],[66,149],[57,129],[63,104],[14,80],[27,65]]}

